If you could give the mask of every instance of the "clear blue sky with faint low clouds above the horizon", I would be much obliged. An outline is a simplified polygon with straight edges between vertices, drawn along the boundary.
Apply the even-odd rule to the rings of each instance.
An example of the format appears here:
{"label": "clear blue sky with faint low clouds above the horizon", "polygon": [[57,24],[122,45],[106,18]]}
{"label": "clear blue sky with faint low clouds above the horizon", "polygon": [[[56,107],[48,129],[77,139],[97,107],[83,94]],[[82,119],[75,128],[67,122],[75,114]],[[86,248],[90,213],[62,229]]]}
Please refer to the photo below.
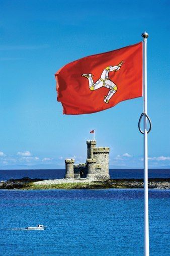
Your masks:
{"label": "clear blue sky with faint low clouds above the horizon", "polygon": [[148,38],[150,168],[170,168],[169,1],[1,0],[1,169],[64,168],[86,160],[96,130],[111,168],[142,168],[142,97],[109,110],[62,115],[54,73],[66,63]]}

